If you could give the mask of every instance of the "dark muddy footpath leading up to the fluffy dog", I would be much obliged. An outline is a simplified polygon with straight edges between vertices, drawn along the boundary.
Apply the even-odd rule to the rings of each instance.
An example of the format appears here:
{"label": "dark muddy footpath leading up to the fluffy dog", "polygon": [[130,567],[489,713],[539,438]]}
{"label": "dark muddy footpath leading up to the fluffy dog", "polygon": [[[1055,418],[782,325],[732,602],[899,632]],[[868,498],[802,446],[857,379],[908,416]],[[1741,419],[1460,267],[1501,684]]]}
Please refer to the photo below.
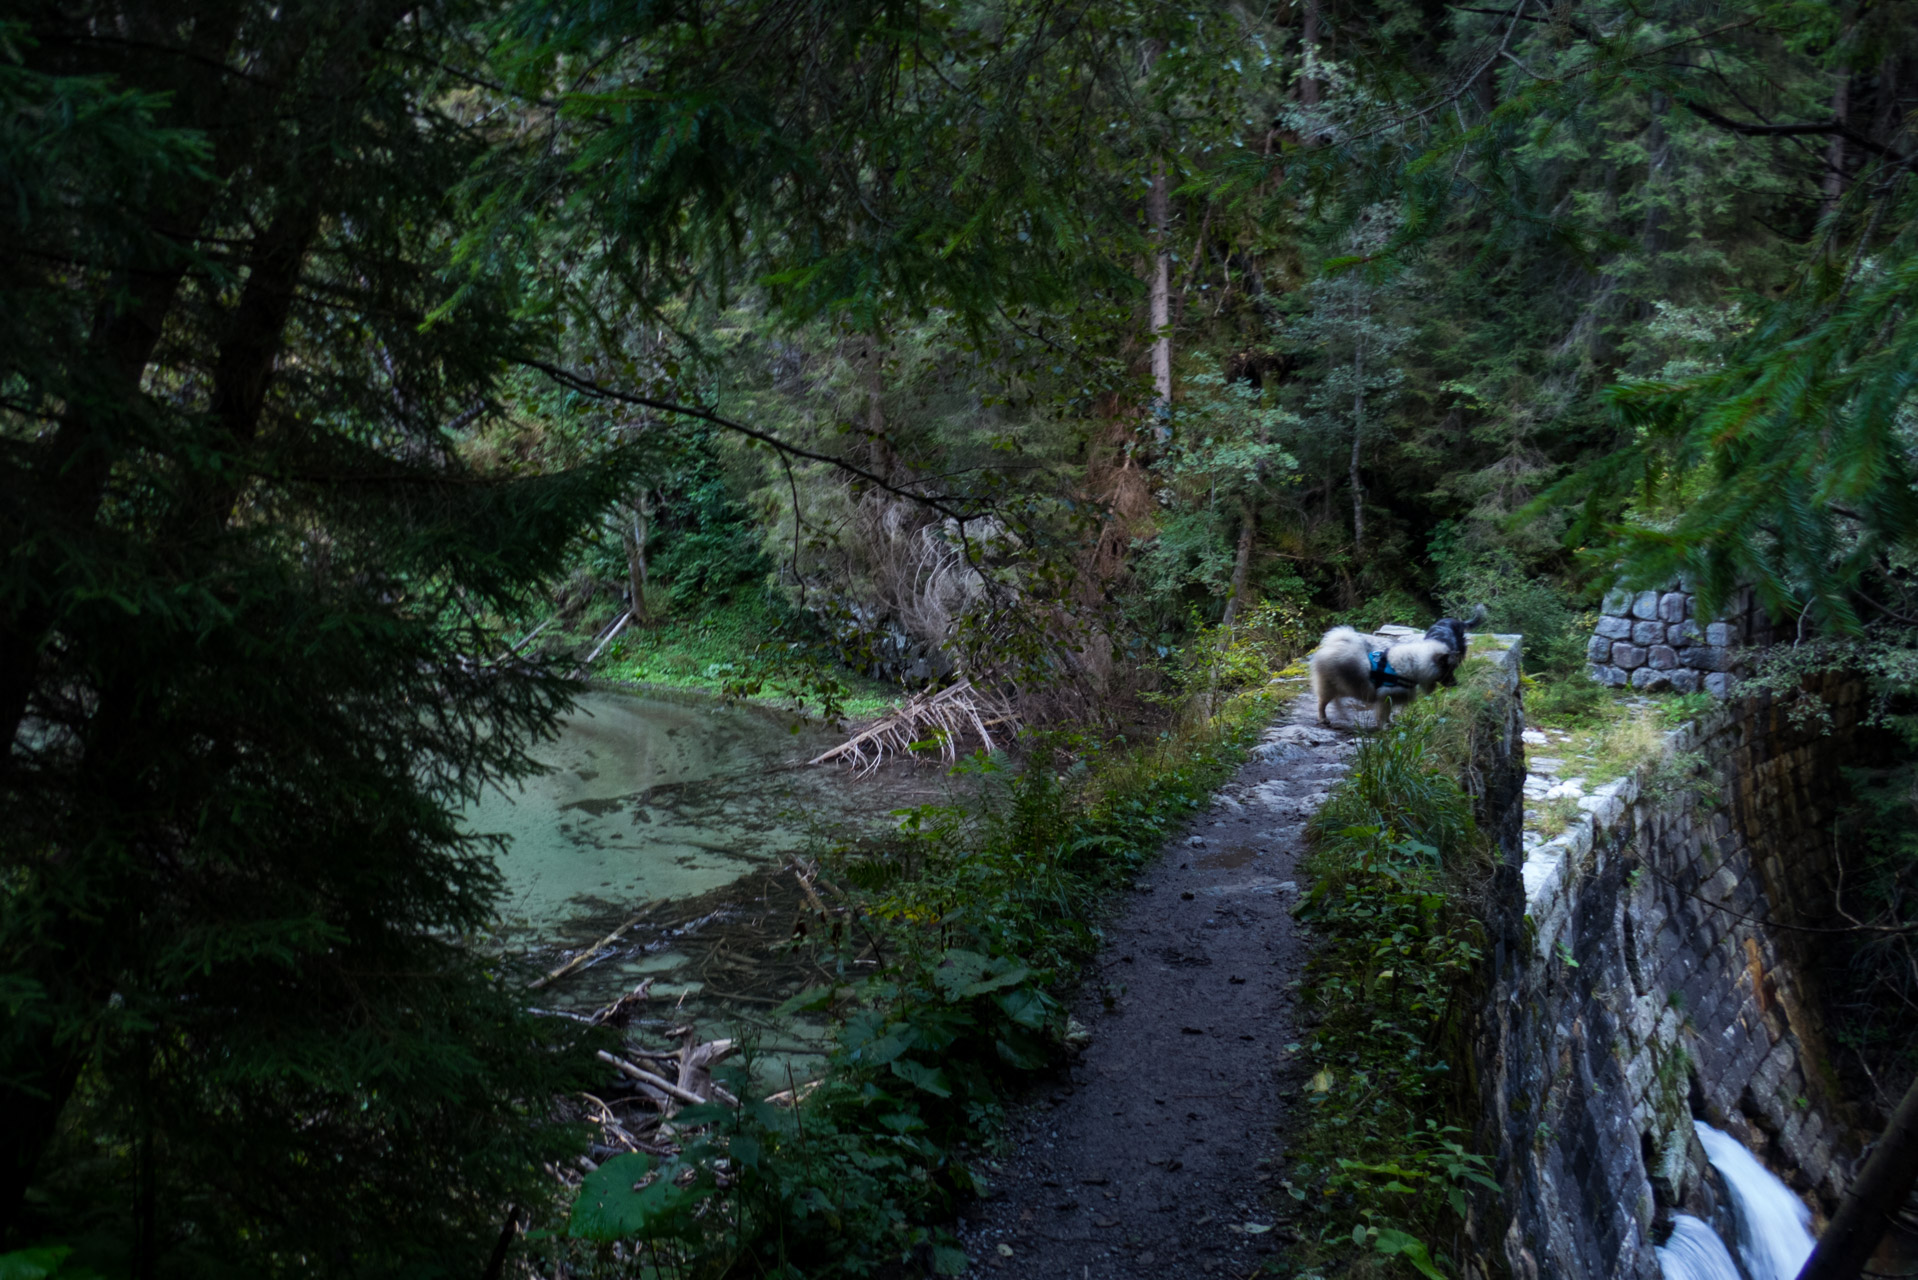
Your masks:
{"label": "dark muddy footpath leading up to the fluffy dog", "polygon": [[1251,1276],[1281,1196],[1304,823],[1356,737],[1300,697],[1141,873],[1080,996],[1089,1048],[1013,1119],[961,1221],[972,1276]]}

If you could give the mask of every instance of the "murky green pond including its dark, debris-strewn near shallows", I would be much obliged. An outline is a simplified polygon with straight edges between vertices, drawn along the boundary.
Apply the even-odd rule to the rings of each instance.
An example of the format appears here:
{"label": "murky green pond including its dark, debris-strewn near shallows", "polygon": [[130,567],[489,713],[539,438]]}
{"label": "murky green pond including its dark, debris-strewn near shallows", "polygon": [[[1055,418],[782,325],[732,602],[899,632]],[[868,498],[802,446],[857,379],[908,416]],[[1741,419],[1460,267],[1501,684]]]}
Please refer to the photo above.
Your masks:
{"label": "murky green pond including its dark, debris-strewn near shallows", "polygon": [[786,864],[892,831],[892,810],[942,798],[946,783],[932,768],[807,768],[842,735],[794,723],[692,693],[595,691],[535,750],[550,773],[466,812],[468,829],[510,839],[499,942],[529,975],[641,915],[541,1004],[589,1011],[652,977],[635,1031],[712,1021],[756,1029],[767,1052],[806,1052],[817,1029],[769,1017],[821,977],[811,948],[792,944],[807,902]]}

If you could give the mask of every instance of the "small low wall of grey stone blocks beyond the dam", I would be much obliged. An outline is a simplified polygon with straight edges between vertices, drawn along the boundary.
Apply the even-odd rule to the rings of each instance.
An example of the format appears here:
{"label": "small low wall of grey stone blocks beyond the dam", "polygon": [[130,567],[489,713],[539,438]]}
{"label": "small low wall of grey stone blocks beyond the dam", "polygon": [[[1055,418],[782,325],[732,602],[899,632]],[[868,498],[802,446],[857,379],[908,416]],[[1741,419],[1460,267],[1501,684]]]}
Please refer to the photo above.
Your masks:
{"label": "small low wall of grey stone blocks beyond the dam", "polygon": [[1663,591],[1613,591],[1586,649],[1592,679],[1655,693],[1703,689],[1728,697],[1738,651],[1770,639],[1770,620],[1743,589],[1719,620],[1697,618],[1697,595],[1682,583]]}

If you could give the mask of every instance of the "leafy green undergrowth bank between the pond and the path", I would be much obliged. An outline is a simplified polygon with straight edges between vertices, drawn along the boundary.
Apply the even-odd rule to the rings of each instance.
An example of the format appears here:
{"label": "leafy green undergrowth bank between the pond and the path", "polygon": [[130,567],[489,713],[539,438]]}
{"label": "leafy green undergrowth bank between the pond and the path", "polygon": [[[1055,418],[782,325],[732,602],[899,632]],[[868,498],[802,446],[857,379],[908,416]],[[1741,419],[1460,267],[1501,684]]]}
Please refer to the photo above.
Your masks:
{"label": "leafy green undergrowth bank between the pond and the path", "polygon": [[[967,1261],[940,1226],[982,1190],[1003,1107],[1078,1034],[1064,998],[1101,940],[1114,890],[1206,802],[1270,722],[1277,662],[1216,637],[1183,679],[1208,716],[1153,741],[1028,735],[961,768],[967,800],[901,810],[882,848],[821,862],[823,977],[790,1002],[832,1019],[798,1107],[679,1115],[704,1126],[677,1157],[621,1155],[537,1244],[545,1274],[926,1276]],[[1220,672],[1229,672],[1220,676]],[[750,1054],[748,1054],[750,1059]]]}

